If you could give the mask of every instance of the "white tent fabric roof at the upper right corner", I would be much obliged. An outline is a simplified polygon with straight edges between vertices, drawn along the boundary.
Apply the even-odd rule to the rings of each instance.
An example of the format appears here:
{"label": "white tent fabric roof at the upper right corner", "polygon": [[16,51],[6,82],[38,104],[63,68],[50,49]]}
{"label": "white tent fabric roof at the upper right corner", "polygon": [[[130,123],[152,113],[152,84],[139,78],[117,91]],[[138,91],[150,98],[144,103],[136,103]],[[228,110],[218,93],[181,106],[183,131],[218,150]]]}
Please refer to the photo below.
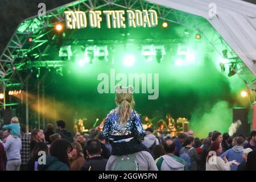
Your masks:
{"label": "white tent fabric roof at the upper right corner", "polygon": [[[147,0],[202,16],[237,53],[245,65],[256,75],[256,5],[240,0]],[[209,16],[209,4],[215,3],[217,16]]]}

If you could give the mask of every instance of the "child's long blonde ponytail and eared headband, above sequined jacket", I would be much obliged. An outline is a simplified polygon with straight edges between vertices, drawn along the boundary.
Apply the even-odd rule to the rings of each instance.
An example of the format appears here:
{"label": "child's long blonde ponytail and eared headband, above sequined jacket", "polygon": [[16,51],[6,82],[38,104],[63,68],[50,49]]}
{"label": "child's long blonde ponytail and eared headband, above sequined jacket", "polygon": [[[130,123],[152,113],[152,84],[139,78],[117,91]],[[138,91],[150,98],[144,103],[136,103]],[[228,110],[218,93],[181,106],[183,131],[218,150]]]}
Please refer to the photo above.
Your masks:
{"label": "child's long blonde ponytail and eared headband, above sequined jacket", "polygon": [[115,103],[117,104],[117,113],[121,114],[119,123],[125,125],[127,120],[130,119],[130,113],[135,104],[133,100],[133,87],[122,88],[121,85],[116,86],[117,94],[115,95]]}

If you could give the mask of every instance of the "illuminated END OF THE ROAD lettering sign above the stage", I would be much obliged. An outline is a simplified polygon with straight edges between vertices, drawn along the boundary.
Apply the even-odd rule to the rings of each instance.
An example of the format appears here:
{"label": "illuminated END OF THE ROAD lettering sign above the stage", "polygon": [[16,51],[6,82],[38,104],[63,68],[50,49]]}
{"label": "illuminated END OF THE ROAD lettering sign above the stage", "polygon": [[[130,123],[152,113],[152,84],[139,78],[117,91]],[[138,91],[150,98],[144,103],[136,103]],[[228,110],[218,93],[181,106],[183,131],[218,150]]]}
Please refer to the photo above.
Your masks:
{"label": "illuminated END OF THE ROAD lettering sign above the stage", "polygon": [[111,10],[111,11],[65,11],[66,27],[79,29],[90,26],[101,28],[102,19],[106,19],[108,28],[155,27],[158,24],[158,14],[155,10]]}

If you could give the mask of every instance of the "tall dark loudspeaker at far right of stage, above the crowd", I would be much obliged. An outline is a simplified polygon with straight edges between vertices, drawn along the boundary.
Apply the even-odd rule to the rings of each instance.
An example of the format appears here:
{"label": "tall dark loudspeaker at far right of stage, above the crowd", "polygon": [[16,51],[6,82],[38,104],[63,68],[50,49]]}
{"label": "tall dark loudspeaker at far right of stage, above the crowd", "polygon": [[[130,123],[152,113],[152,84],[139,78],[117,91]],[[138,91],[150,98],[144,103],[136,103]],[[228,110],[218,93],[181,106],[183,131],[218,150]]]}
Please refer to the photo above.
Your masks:
{"label": "tall dark loudspeaker at far right of stage, above the crowd", "polygon": [[242,125],[238,127],[236,133],[234,133],[234,137],[238,137],[239,135],[243,135],[247,137],[250,135],[250,125],[248,123],[248,109],[238,107],[233,108],[233,123],[240,120]]}

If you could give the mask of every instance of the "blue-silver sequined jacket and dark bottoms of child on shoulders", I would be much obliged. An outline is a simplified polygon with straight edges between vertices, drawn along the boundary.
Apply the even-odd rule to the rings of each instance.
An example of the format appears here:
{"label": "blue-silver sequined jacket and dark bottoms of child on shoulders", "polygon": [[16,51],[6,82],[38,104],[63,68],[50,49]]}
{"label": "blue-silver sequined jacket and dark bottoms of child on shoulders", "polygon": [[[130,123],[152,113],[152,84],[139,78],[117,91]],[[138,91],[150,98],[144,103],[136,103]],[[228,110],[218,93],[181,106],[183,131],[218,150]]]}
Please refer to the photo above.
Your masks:
{"label": "blue-silver sequined jacket and dark bottoms of child on shoulders", "polygon": [[105,120],[102,137],[112,144],[112,155],[126,155],[139,151],[147,151],[141,143],[146,132],[142,127],[139,114],[131,110],[130,118],[126,125],[122,126],[118,121],[121,115],[117,114],[117,108],[110,111]]}

